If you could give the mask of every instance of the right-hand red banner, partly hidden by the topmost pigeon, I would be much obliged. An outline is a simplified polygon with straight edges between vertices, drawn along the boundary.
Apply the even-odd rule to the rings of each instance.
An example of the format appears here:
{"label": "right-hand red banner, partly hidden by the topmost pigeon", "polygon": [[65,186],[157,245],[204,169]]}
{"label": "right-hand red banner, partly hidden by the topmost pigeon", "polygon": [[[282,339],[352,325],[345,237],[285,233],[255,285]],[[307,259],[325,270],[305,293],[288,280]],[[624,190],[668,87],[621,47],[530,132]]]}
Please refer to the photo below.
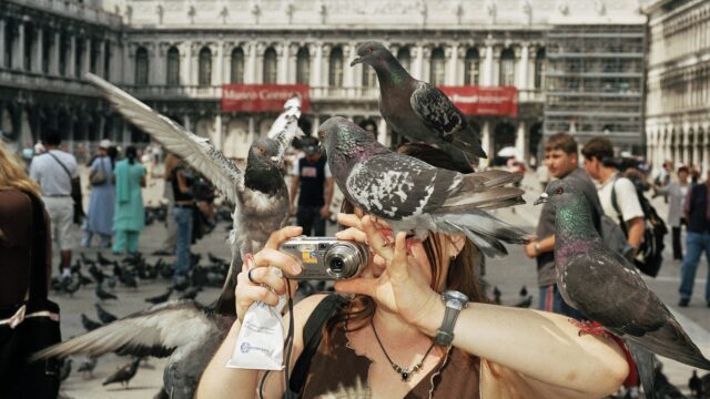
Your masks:
{"label": "right-hand red banner, partly hidden by the topmost pigeon", "polygon": [[465,115],[518,114],[518,90],[515,86],[439,86]]}

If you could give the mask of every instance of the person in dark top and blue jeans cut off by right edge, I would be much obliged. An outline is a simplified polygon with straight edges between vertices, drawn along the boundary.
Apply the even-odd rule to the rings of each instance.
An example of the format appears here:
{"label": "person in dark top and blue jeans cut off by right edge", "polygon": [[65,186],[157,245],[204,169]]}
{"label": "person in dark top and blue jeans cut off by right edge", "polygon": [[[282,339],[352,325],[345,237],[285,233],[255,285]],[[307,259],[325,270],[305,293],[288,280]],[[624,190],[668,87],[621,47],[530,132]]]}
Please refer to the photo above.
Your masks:
{"label": "person in dark top and blue jeans cut off by right edge", "polygon": [[[693,185],[686,196],[683,212],[688,221],[688,234],[686,236],[686,257],[680,267],[680,301],[678,306],[687,307],[692,296],[692,286],[696,282],[696,272],[700,263],[700,255],[706,252],[710,263],[710,172],[704,183]],[[710,272],[708,273],[710,277]],[[710,307],[710,278],[706,282],[706,303]]]}

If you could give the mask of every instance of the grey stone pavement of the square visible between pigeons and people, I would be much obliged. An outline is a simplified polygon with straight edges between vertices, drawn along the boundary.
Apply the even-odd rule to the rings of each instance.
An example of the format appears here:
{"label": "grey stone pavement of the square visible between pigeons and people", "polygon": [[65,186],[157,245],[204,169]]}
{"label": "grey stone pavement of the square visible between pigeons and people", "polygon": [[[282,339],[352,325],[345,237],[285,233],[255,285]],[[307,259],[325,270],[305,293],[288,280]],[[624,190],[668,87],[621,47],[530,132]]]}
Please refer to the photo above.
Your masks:
{"label": "grey stone pavement of the square visible between pigeons and people", "polygon": [[[539,185],[535,181],[532,175],[527,175],[523,181],[523,187],[528,191],[526,194],[527,204],[516,207],[515,212],[509,209],[497,211],[497,216],[500,218],[521,226],[523,228],[534,232],[534,226],[537,224],[537,217],[539,215],[539,207],[532,206],[532,202],[539,195]],[[149,182],[149,188],[145,192],[145,201],[151,204],[156,204],[160,201],[162,194],[162,181],[153,180]],[[666,214],[662,200],[658,198],[655,202],[657,209],[661,215]],[[193,252],[202,254],[203,259],[209,252],[216,256],[229,258],[229,247],[225,242],[225,223],[221,223],[212,234],[200,241],[193,246]],[[328,233],[334,231],[335,226],[328,226]],[[158,249],[164,238],[164,227],[158,222],[146,229],[141,235],[140,250],[143,254],[150,254]],[[668,242],[667,259],[671,259],[670,254],[670,237]],[[90,257],[95,257],[98,249],[89,248],[81,249],[85,252]],[[520,247],[509,247],[510,255],[503,259],[489,259],[487,266],[486,279],[490,283],[491,287],[497,286],[503,291],[504,304],[514,304],[519,300],[518,291],[523,285],[528,287],[528,290],[534,298],[534,306],[538,300],[537,283],[535,263],[523,253]],[[103,250],[104,255],[108,250]],[[110,255],[106,255],[110,257]],[[156,257],[149,256],[149,262],[153,263]],[[172,257],[165,257],[168,260],[172,260]],[[203,260],[203,264],[205,262]],[[678,300],[677,287],[679,285],[679,266],[674,265],[672,260],[666,262],[661,268],[660,275],[652,279],[647,279],[649,286],[659,295],[659,297],[668,304],[669,308],[677,315],[681,325],[690,334],[693,340],[701,347],[706,356],[710,356],[710,309],[701,301],[701,293],[704,289],[704,282],[707,276],[707,264],[702,263],[698,270],[698,279],[696,282],[696,297],[690,307],[684,309],[676,308]],[[120,285],[115,289],[115,294],[120,297],[120,300],[106,301],[104,307],[106,310],[115,314],[119,317],[130,315],[134,311],[145,309],[149,304],[144,303],[144,298],[163,293],[169,286],[169,282],[161,279],[160,277],[154,283],[140,283],[136,290],[126,289]],[[219,290],[215,288],[207,288],[200,293],[197,300],[203,304],[209,304],[216,298]],[[83,328],[80,323],[81,314],[87,314],[89,317],[97,319],[95,309],[93,304],[98,301],[93,294],[93,287],[82,288],[73,297],[64,295],[51,294],[52,299],[57,300],[62,309],[62,337],[69,338],[83,334]],[[79,367],[79,364],[83,360],[82,357],[73,358],[74,370]],[[130,388],[124,389],[120,386],[113,385],[102,387],[101,382],[112,374],[118,367],[128,364],[129,358],[118,357],[115,355],[103,356],[99,359],[99,362],[94,370],[93,378],[83,379],[77,372],[72,372],[69,379],[62,386],[62,393],[70,398],[151,398],[156,393],[162,386],[162,368],[164,360],[150,358],[148,365],[142,364],[139,368],[136,377],[131,381]],[[684,365],[680,365],[676,361],[663,359],[665,372],[670,378],[670,381],[681,388],[684,392],[688,392],[687,382],[691,375],[691,368]],[[702,375],[702,372],[701,372]]]}

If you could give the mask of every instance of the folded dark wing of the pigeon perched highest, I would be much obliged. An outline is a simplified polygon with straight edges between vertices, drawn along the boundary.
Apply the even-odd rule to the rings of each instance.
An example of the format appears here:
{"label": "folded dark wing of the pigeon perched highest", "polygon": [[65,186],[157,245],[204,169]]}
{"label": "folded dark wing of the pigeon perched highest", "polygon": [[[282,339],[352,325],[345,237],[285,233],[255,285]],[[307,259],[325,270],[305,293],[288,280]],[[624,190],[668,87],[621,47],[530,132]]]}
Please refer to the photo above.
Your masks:
{"label": "folded dark wing of the pigeon perched highest", "polygon": [[480,137],[470,130],[464,114],[437,88],[419,82],[409,98],[412,109],[419,120],[439,139],[455,143],[465,153],[486,157]]}

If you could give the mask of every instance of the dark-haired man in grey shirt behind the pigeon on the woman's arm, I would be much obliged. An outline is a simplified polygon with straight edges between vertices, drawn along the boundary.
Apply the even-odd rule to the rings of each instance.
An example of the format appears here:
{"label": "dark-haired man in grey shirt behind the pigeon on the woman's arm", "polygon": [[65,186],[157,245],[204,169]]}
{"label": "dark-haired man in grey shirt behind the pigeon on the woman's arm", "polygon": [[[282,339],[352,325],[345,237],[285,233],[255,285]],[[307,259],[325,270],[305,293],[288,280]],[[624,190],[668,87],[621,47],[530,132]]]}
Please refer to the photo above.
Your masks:
{"label": "dark-haired man in grey shirt behind the pigeon on the woman's arm", "polygon": [[[589,176],[579,168],[577,142],[567,133],[558,133],[545,143],[545,165],[555,178],[565,178],[585,193],[592,209],[592,218],[597,231],[601,233],[601,205],[597,190]],[[577,309],[565,303],[557,289],[555,272],[555,206],[545,204],[536,231],[536,239],[525,245],[525,254],[537,262],[537,280],[540,289],[539,309],[554,311],[574,318],[582,318]]]}

